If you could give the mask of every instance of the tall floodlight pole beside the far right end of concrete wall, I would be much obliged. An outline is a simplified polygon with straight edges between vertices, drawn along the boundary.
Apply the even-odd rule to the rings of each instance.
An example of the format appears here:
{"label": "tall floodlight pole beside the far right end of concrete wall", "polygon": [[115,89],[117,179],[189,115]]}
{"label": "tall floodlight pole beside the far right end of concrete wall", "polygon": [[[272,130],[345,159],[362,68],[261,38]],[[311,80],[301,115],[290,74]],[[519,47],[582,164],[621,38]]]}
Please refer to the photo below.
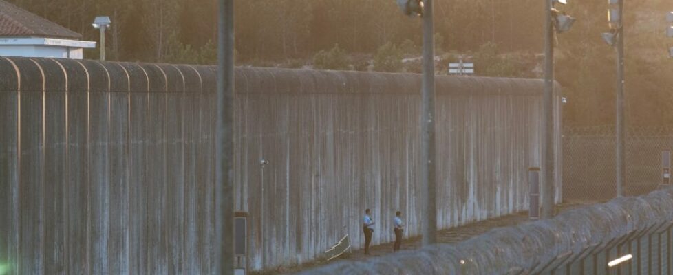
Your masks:
{"label": "tall floodlight pole beside the far right end of concrete wall", "polygon": [[544,94],[542,95],[542,219],[554,215],[554,31],[567,32],[575,23],[573,17],[556,10],[555,3],[566,0],[545,0],[544,12]]}

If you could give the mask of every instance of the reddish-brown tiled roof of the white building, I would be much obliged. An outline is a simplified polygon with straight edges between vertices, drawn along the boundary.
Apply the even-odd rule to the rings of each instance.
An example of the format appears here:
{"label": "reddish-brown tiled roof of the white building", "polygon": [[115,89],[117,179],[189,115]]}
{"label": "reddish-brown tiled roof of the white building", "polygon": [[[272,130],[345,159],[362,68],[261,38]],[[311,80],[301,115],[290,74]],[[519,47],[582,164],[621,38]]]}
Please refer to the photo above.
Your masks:
{"label": "reddish-brown tiled roof of the white building", "polygon": [[40,36],[61,39],[81,39],[82,35],[52,21],[0,0],[1,36]]}

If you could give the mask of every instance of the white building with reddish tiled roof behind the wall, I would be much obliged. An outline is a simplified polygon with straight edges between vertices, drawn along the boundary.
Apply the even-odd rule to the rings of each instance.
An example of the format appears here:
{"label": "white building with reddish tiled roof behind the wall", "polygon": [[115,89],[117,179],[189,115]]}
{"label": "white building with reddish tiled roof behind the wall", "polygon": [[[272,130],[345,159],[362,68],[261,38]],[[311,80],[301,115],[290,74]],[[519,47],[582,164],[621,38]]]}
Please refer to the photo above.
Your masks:
{"label": "white building with reddish tiled roof behind the wall", "polygon": [[81,34],[0,0],[0,56],[82,59],[83,49],[95,48],[96,42],[81,38]]}

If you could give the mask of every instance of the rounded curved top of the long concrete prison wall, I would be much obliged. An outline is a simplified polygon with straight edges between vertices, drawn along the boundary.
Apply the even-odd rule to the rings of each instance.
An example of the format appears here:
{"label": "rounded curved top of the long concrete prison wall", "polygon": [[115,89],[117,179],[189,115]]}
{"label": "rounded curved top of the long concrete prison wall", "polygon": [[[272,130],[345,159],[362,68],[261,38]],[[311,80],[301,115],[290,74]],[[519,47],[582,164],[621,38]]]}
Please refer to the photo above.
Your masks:
{"label": "rounded curved top of the long concrete prison wall", "polygon": [[[213,93],[216,73],[217,67],[205,65],[0,57],[0,75],[6,76],[0,78],[0,91],[42,91],[44,86],[45,91]],[[235,81],[237,94],[420,94],[420,76],[237,67]],[[524,78],[437,76],[435,83],[439,96],[535,96],[544,88],[543,80]]]}

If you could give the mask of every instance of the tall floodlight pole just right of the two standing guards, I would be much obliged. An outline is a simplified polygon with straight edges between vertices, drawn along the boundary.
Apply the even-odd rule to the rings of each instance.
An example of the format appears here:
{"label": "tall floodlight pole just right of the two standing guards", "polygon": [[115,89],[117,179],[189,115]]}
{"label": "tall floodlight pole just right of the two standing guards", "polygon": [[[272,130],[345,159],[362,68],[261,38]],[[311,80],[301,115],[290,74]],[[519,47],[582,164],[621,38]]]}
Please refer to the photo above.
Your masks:
{"label": "tall floodlight pole just right of the two standing guards", "polygon": [[420,103],[420,184],[423,198],[423,246],[437,242],[437,173],[435,162],[435,61],[432,0],[397,0],[402,12],[423,17],[423,84]]}

